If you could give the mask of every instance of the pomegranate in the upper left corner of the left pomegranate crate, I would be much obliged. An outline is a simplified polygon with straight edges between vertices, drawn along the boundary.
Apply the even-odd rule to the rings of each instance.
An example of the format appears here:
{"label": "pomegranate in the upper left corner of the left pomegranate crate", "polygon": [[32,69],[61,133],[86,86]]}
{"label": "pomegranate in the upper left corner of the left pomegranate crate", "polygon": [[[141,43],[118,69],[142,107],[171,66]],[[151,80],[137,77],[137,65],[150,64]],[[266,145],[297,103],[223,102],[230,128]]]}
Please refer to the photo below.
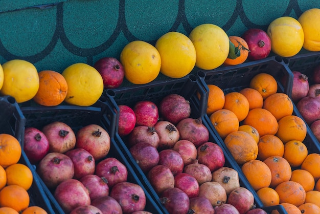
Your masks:
{"label": "pomegranate in the upper left corner of the left pomegranate crate", "polygon": [[40,130],[26,127],[24,151],[30,163],[36,164],[49,152],[49,140]]}

